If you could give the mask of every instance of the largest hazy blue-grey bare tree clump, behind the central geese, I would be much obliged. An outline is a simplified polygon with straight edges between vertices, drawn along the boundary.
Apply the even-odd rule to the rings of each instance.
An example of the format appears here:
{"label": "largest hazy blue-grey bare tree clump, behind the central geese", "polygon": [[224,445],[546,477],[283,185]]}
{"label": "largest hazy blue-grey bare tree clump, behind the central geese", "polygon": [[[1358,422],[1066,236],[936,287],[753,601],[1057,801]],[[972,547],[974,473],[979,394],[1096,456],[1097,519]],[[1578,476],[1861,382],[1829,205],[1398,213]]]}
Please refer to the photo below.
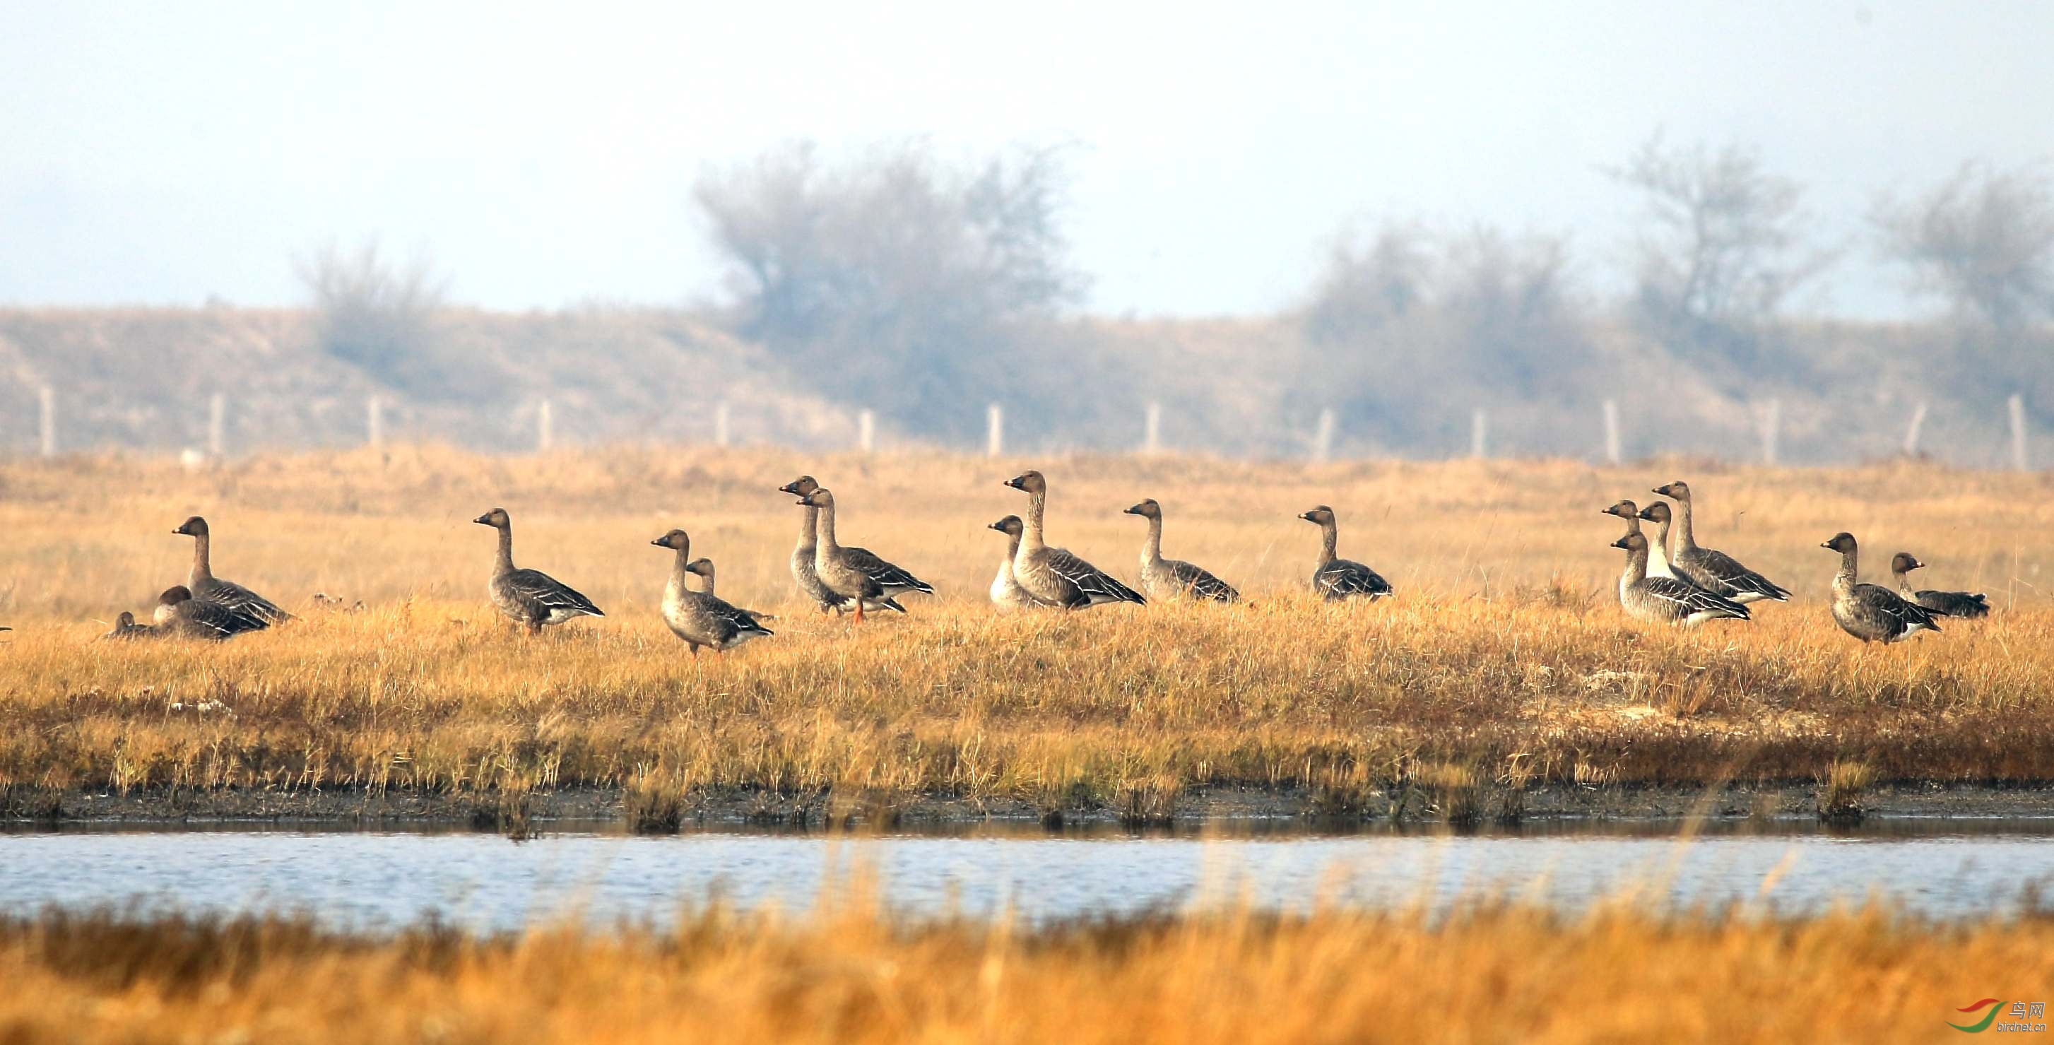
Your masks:
{"label": "largest hazy blue-grey bare tree clump, behind the central geese", "polygon": [[1048,343],[1043,326],[1082,294],[1066,189],[1058,150],[947,164],[912,142],[828,164],[797,144],[709,170],[694,199],[733,263],[739,335],[822,392],[963,435],[982,425],[965,400],[1052,394],[1004,359]]}

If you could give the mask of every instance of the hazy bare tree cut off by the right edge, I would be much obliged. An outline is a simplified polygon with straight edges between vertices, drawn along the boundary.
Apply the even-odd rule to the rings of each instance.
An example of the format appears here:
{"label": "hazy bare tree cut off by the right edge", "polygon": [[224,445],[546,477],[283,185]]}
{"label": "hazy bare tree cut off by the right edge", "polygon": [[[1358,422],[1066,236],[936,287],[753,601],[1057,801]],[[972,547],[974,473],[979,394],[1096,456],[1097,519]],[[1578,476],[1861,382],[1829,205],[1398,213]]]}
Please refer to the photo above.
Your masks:
{"label": "hazy bare tree cut off by the right edge", "polygon": [[1962,164],[1933,189],[1873,211],[1884,255],[1957,318],[2001,333],[2054,314],[2054,189],[2042,170]]}

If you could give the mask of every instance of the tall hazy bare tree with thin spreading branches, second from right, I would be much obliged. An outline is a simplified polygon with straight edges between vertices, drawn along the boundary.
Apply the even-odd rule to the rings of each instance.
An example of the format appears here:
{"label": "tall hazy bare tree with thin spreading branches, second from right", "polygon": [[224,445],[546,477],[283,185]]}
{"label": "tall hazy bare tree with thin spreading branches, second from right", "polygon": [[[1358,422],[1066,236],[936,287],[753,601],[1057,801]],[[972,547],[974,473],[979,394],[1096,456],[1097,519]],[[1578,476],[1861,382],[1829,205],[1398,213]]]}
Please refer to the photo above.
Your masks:
{"label": "tall hazy bare tree with thin spreading branches, second from right", "polygon": [[1637,306],[1672,343],[1750,359],[1783,300],[1830,263],[1803,246],[1803,187],[1740,146],[1670,148],[1656,133],[1606,175],[1645,199]]}

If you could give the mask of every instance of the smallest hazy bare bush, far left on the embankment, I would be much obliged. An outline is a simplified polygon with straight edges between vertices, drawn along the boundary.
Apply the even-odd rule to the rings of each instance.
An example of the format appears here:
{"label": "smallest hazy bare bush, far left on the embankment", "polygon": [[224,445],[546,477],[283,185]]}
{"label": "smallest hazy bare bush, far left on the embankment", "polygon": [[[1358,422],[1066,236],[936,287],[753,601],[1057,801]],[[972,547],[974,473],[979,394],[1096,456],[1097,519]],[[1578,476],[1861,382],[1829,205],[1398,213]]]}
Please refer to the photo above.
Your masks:
{"label": "smallest hazy bare bush, far left on the embankment", "polygon": [[294,259],[294,269],[312,296],[322,351],[394,386],[448,378],[431,359],[448,279],[425,257],[396,267],[376,240],[355,250],[331,240]]}

